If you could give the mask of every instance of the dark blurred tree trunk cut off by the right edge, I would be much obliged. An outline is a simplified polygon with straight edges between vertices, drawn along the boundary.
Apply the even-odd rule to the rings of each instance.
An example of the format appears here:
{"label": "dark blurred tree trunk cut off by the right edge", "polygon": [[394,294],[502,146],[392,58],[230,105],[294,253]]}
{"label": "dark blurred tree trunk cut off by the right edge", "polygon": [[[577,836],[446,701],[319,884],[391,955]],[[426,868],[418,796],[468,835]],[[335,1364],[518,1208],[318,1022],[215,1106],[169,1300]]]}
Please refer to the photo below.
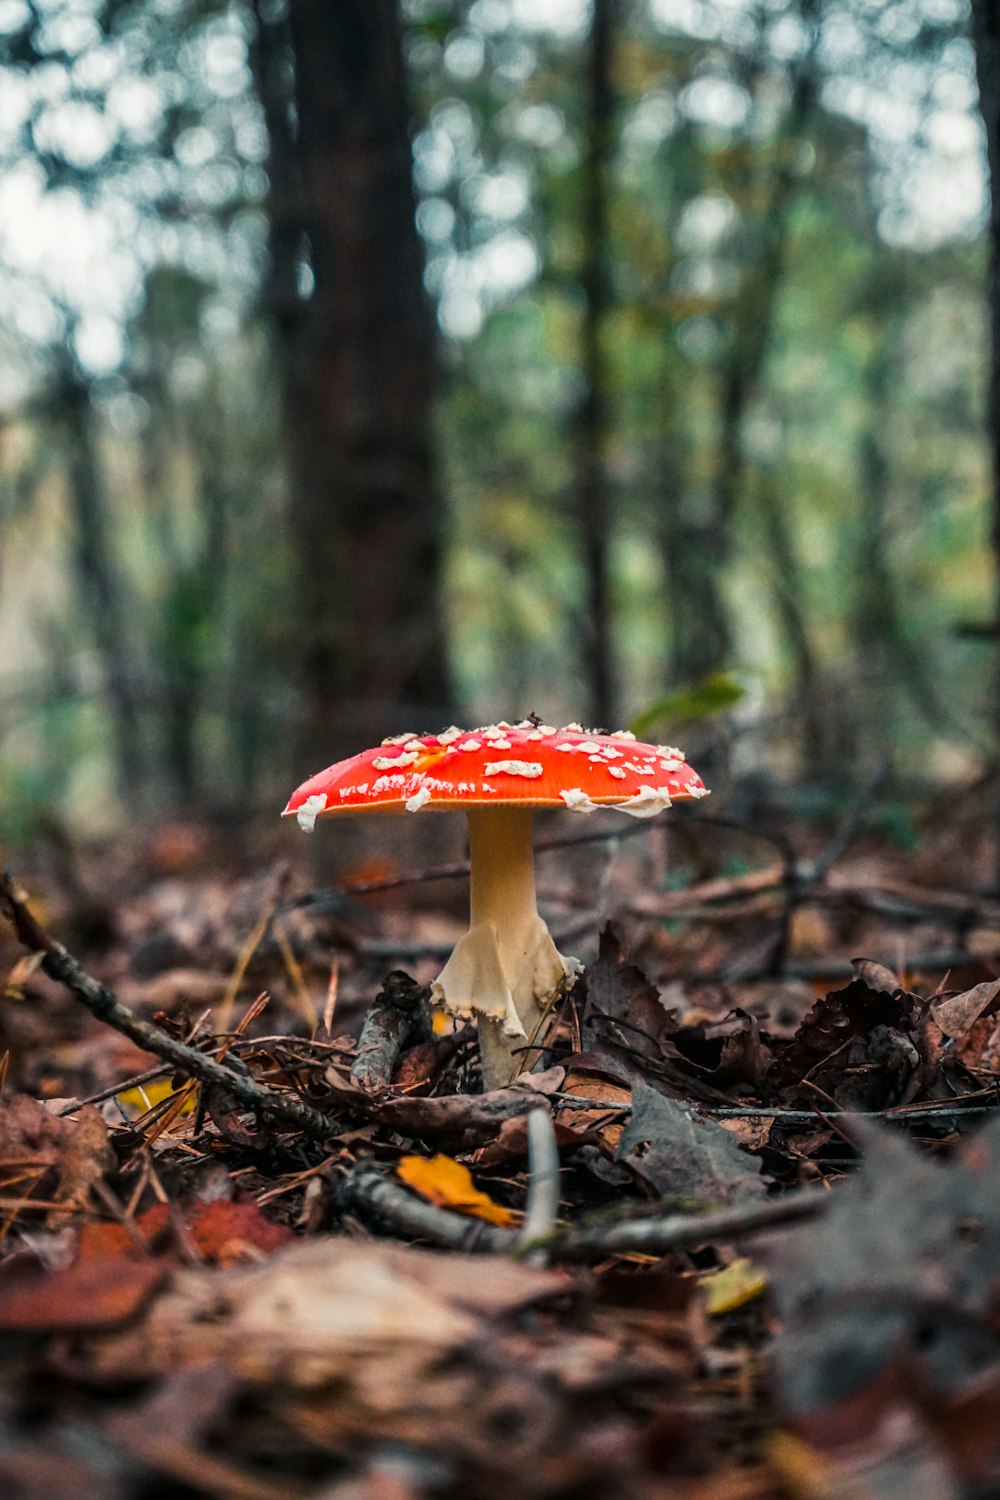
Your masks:
{"label": "dark blurred tree trunk cut off by the right edge", "polygon": [[1000,8],[997,0],[972,0],[979,108],[987,129],[990,164],[990,394],[987,424],[993,464],[993,550],[996,574],[997,666],[994,675],[996,752],[1000,758]]}

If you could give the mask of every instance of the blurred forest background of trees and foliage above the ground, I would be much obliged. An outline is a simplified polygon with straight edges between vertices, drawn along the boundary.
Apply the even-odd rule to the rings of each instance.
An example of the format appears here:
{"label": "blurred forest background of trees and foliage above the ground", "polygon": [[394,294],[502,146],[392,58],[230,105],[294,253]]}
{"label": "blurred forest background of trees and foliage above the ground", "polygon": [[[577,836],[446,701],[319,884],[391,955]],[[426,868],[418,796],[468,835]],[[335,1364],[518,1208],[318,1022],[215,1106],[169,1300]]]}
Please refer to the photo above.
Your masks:
{"label": "blurred forest background of trees and foliage above the ground", "polygon": [[0,0],[4,836],[532,710],[988,770],[997,26]]}

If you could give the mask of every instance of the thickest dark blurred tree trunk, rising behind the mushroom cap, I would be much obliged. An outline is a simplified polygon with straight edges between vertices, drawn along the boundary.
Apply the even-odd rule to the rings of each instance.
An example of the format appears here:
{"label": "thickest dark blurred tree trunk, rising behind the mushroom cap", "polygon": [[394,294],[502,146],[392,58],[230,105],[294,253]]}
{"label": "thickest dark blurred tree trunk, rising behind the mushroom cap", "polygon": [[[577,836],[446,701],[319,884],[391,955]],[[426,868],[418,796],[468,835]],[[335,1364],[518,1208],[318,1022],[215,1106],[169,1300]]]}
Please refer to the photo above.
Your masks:
{"label": "thickest dark blurred tree trunk, rising behind the mushroom cap", "polygon": [[[414,224],[394,0],[258,8],[271,138],[271,304],[295,561],[303,753],[450,704],[435,339]],[[411,710],[411,712],[412,712]]]}

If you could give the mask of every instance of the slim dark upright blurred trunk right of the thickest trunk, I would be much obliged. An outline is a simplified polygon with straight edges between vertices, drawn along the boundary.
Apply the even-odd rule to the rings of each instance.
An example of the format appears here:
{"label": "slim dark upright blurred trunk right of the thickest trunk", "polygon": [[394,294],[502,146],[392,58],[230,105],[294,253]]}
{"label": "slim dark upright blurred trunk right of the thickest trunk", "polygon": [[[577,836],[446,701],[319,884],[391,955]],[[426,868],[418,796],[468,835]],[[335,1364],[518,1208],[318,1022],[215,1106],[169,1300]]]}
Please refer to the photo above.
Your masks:
{"label": "slim dark upright blurred trunk right of the thickest trunk", "polygon": [[612,646],[610,495],[607,440],[610,428],[609,370],[604,354],[610,288],[610,156],[615,141],[615,0],[594,0],[588,48],[586,154],[583,162],[580,288],[583,327],[580,369],[583,392],[577,408],[577,522],[583,549],[586,618],[583,670],[589,723],[616,723],[616,674]]}

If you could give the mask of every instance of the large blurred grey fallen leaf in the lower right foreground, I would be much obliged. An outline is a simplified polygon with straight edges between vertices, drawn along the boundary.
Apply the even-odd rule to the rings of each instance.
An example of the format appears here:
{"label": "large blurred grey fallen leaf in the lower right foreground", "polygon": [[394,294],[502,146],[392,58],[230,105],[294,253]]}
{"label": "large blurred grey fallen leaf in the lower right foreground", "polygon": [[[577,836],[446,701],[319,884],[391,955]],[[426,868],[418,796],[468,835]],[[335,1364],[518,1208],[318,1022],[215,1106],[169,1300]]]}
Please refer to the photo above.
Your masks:
{"label": "large blurred grey fallen leaf in the lower right foreground", "polygon": [[963,1392],[1000,1389],[1000,1125],[946,1167],[870,1120],[852,1132],[865,1158],[822,1226],[757,1251],[781,1326],[780,1398],[810,1440],[856,1440],[859,1424],[874,1432],[886,1412],[916,1408],[937,1413],[942,1443],[964,1443],[948,1410],[958,1424]]}

